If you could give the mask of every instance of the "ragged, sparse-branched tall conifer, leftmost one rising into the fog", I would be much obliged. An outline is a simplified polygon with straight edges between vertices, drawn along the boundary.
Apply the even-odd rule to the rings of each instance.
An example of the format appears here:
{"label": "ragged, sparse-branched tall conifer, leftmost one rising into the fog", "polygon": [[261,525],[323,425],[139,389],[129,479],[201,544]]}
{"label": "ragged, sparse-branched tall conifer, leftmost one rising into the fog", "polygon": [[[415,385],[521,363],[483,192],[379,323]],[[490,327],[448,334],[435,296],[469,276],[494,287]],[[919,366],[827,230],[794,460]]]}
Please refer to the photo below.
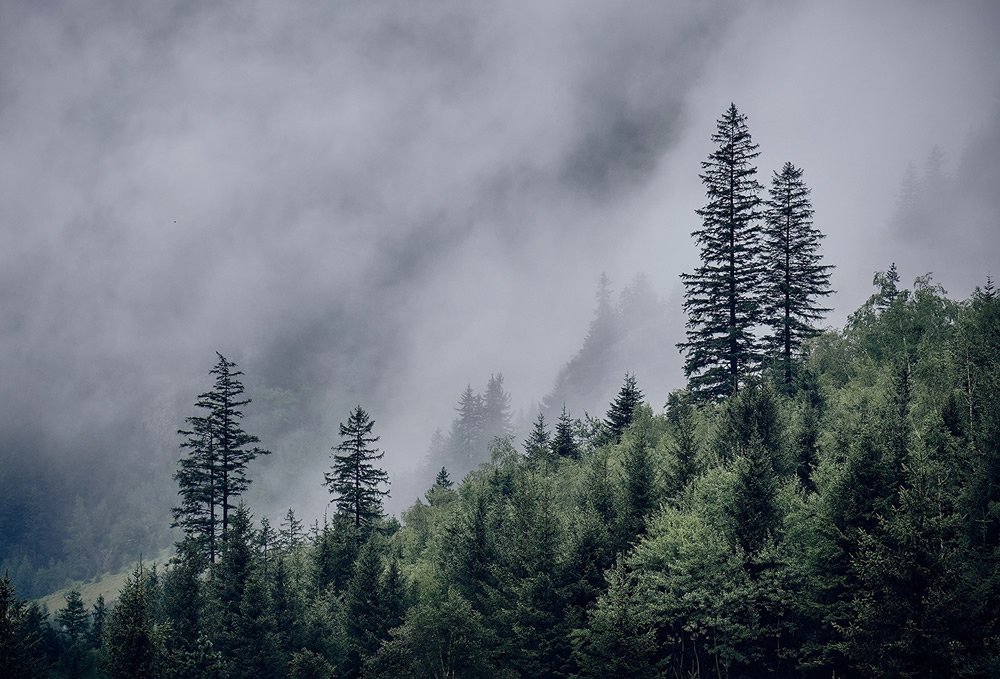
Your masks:
{"label": "ragged, sparse-branched tall conifer, leftmost one rising into the fog", "polygon": [[247,466],[258,455],[270,453],[257,447],[260,439],[240,424],[241,408],[250,403],[242,398],[239,378],[243,373],[225,356],[216,355],[219,360],[209,371],[215,375],[215,386],[195,402],[205,414],[186,418],[190,429],[178,432],[185,437],[181,448],[188,455],[180,460],[174,475],[181,505],[173,509],[171,524],[197,540],[210,563],[215,563],[218,541],[226,539],[234,500],[250,487]]}

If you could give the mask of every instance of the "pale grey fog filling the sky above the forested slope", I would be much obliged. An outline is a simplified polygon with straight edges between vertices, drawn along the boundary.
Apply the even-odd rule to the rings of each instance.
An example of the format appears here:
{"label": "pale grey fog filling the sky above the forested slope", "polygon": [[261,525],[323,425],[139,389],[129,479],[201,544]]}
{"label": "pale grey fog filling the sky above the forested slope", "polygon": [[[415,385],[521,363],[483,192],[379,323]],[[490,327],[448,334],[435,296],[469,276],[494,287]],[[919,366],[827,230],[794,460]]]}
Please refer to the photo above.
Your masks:
{"label": "pale grey fog filling the sky above the forested slope", "polygon": [[[602,271],[616,291],[644,271],[681,327],[731,101],[762,183],[805,170],[830,324],[893,261],[966,297],[1000,251],[992,192],[919,241],[893,214],[934,145],[956,177],[1000,176],[975,153],[1000,134],[1000,12],[871,5],[4,3],[5,466],[169,483],[219,351],[248,418],[298,395],[251,470],[263,511],[322,511],[357,403],[412,474],[466,384],[503,373],[515,410],[546,395]],[[683,384],[662,351],[676,370],[638,375],[654,409]]]}

